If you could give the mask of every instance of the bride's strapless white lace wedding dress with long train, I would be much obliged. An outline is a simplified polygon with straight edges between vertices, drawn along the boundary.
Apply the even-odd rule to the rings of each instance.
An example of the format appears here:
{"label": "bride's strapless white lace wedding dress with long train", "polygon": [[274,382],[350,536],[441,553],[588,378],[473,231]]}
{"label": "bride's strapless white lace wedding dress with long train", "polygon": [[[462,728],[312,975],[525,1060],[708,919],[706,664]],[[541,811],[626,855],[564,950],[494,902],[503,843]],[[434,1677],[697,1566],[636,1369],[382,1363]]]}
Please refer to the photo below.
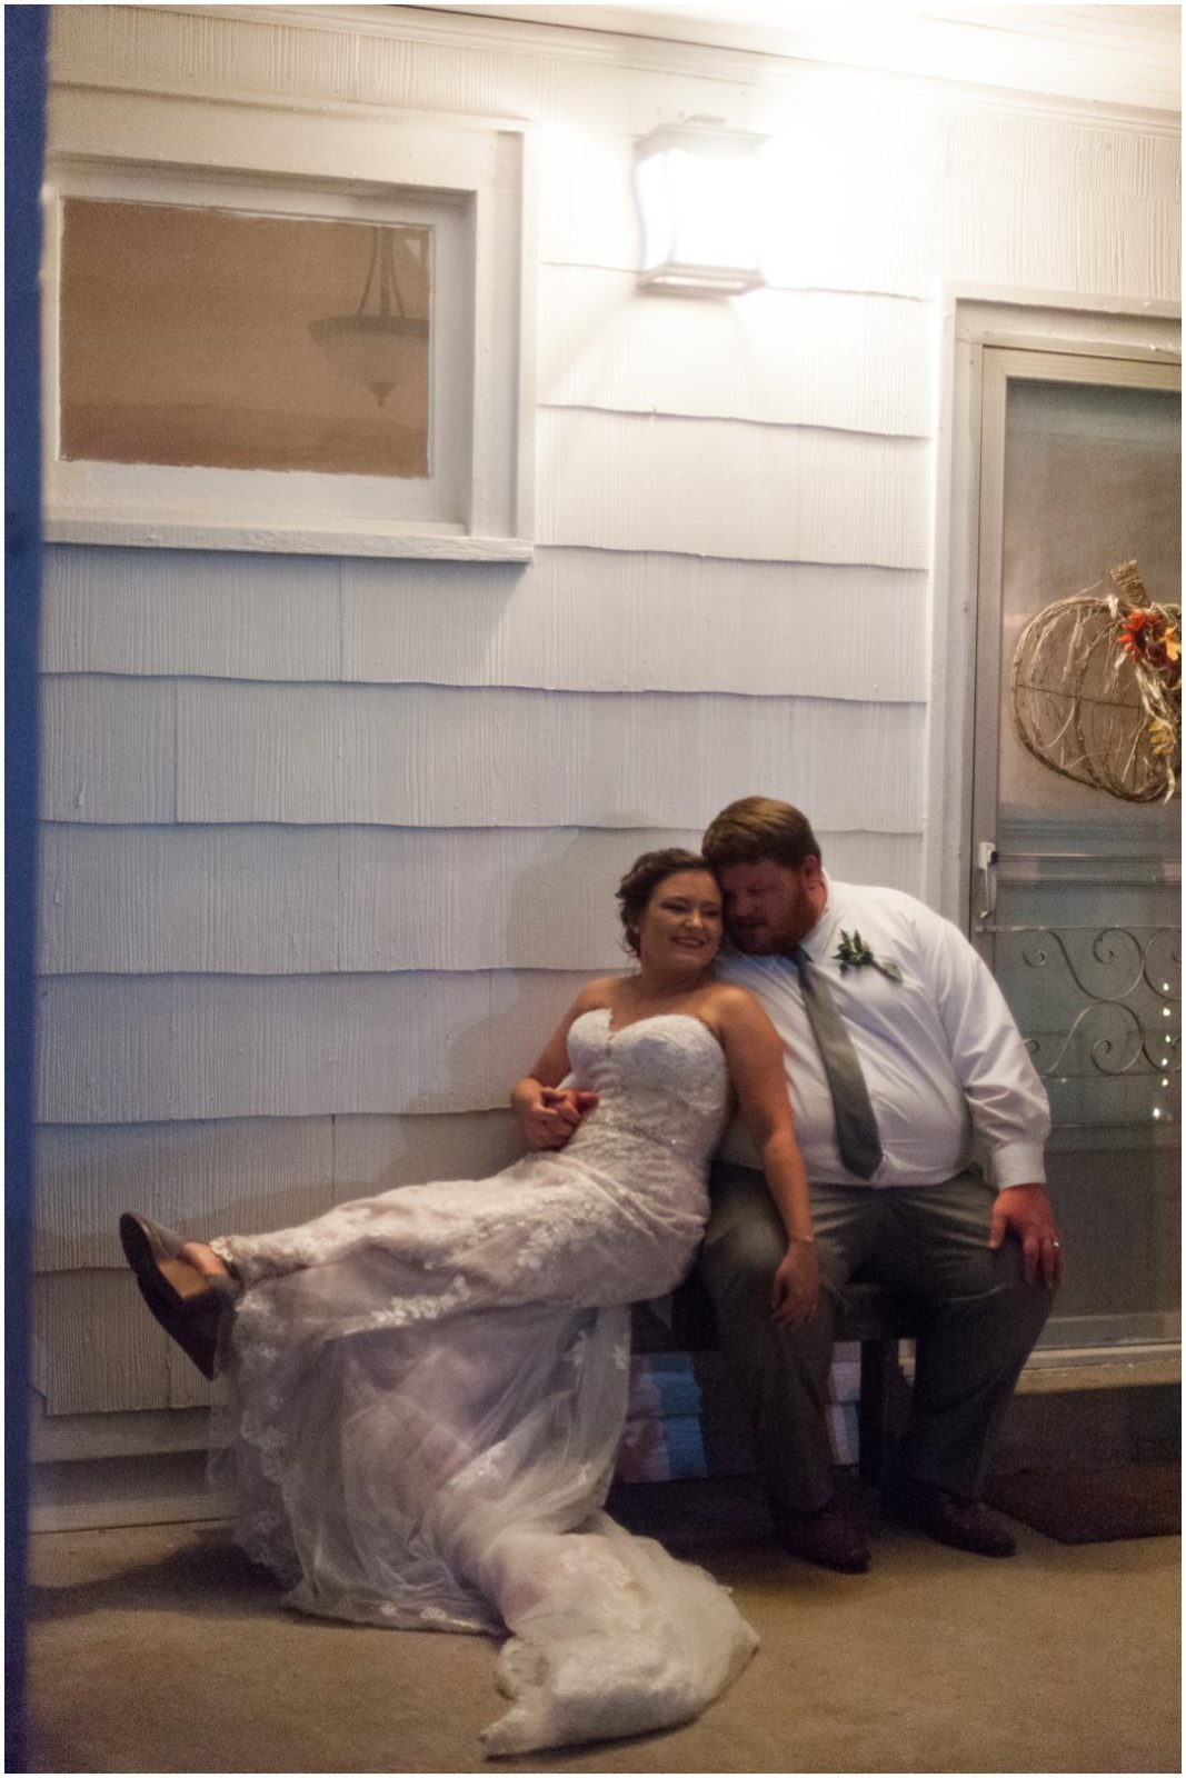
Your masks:
{"label": "bride's strapless white lace wedding dress with long train", "polygon": [[304,1611],[507,1627],[489,1753],[686,1721],[757,1641],[709,1575],[601,1511],[628,1305],[701,1237],[724,1056],[686,1013],[615,1033],[596,1010],[569,1061],[601,1097],[562,1152],[213,1243],[249,1285],[226,1373],[238,1542]]}

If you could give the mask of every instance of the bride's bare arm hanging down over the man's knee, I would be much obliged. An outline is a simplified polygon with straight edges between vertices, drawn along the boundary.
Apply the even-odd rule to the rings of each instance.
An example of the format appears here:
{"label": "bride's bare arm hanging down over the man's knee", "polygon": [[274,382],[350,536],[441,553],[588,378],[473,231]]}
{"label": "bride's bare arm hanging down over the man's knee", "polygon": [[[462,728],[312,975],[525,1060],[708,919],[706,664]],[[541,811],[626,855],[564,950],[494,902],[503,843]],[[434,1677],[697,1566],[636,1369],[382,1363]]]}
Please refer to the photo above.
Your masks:
{"label": "bride's bare arm hanging down over the man's knee", "polygon": [[773,1319],[805,1321],[820,1294],[820,1264],[811,1229],[811,1193],[804,1157],[795,1140],[795,1118],[786,1090],[782,1044],[773,1024],[745,989],[722,987],[713,997],[717,1035],[729,1065],[754,1147],[761,1156],[788,1248],[773,1277]]}

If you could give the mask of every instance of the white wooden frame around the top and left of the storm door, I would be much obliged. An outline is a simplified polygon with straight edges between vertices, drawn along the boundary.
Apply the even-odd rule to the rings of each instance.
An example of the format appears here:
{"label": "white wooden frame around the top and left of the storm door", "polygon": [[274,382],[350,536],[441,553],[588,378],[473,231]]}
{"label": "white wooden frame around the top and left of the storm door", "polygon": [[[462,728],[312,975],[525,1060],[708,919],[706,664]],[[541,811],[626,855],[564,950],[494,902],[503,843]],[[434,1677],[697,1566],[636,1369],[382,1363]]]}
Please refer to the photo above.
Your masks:
{"label": "white wooden frame around the top and left of the storm door", "polygon": [[957,283],[939,304],[923,900],[969,933],[985,347],[1181,364],[1181,304]]}

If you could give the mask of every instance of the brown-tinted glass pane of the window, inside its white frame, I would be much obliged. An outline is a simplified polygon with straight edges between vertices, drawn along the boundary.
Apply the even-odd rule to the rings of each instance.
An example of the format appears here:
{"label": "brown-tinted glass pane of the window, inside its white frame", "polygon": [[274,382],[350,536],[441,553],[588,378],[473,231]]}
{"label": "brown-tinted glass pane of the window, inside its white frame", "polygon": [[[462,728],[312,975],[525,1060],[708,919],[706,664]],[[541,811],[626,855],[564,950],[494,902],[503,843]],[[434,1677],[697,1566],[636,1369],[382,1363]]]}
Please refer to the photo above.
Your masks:
{"label": "brown-tinted glass pane of the window, inside its white frame", "polygon": [[59,455],[421,478],[430,228],[62,204]]}

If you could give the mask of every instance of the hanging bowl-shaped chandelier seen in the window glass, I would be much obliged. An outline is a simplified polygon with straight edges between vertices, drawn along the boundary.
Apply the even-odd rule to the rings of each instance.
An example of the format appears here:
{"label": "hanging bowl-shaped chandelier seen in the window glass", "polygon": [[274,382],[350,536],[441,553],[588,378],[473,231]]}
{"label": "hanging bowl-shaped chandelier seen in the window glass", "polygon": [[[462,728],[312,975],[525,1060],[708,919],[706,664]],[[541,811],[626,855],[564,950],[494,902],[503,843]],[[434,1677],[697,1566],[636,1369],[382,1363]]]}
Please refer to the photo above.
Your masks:
{"label": "hanging bowl-shaped chandelier seen in the window glass", "polygon": [[395,276],[395,236],[423,267],[427,242],[420,229],[375,228],[363,300],[354,315],[329,315],[309,322],[309,332],[331,364],[363,382],[379,405],[391,393],[416,382],[427,386],[429,318],[409,315]]}

